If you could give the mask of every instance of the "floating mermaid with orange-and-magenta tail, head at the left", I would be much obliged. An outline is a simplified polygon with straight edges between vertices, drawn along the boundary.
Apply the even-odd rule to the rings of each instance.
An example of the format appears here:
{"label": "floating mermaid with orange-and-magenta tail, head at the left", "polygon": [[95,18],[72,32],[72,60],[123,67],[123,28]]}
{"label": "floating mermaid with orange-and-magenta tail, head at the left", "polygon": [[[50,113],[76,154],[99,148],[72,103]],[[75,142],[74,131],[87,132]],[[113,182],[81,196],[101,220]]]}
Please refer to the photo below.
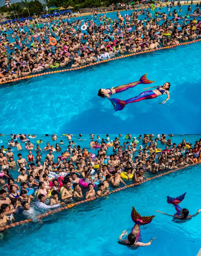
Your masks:
{"label": "floating mermaid with orange-and-magenta tail, head at the left", "polygon": [[122,91],[126,91],[129,88],[135,87],[137,84],[151,84],[154,83],[155,81],[150,81],[148,79],[146,79],[146,74],[144,76],[142,76],[139,81],[137,82],[133,82],[133,83],[129,83],[129,84],[123,84],[123,85],[119,85],[115,88],[111,88],[111,89],[99,89],[98,92],[98,96],[104,98],[107,97],[108,99],[110,98],[110,95],[113,95],[115,93],[119,93]]}

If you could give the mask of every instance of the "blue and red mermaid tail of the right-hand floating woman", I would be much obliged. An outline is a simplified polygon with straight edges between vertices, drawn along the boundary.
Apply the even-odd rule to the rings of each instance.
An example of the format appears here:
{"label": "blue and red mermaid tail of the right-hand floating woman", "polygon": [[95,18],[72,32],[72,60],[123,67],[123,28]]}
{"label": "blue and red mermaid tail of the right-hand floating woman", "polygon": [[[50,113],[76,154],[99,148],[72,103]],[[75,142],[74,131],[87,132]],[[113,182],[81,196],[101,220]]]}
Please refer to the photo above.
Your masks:
{"label": "blue and red mermaid tail of the right-hand floating woman", "polygon": [[155,94],[155,92],[151,91],[144,91],[141,94],[139,94],[138,96],[135,96],[133,98],[127,99],[125,101],[121,101],[120,99],[109,99],[110,101],[112,101],[114,104],[116,104],[115,106],[115,111],[119,111],[124,109],[124,106],[128,103],[133,103],[133,102],[138,102],[138,101],[142,101],[143,99],[153,99],[158,97],[157,94]]}

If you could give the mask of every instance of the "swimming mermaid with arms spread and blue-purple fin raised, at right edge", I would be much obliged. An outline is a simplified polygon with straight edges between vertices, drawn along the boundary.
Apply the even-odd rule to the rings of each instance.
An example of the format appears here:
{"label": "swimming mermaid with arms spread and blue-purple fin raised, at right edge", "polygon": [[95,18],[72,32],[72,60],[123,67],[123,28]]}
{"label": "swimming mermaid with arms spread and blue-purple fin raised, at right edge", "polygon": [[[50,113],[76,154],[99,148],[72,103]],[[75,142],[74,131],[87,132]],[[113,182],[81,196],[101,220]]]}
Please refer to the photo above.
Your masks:
{"label": "swimming mermaid with arms spread and blue-purple fin raised, at right edge", "polygon": [[168,216],[171,216],[171,217],[174,217],[174,218],[180,219],[180,220],[188,220],[188,219],[191,219],[192,217],[198,215],[200,213],[201,209],[199,209],[198,212],[196,212],[193,215],[188,215],[189,214],[188,209],[186,209],[186,208],[181,209],[181,207],[179,206],[179,203],[184,199],[185,194],[186,193],[184,193],[176,198],[167,196],[167,202],[172,203],[177,211],[174,215],[167,214],[167,213],[160,212],[160,211],[155,211],[155,212],[163,213],[163,214],[166,214]]}

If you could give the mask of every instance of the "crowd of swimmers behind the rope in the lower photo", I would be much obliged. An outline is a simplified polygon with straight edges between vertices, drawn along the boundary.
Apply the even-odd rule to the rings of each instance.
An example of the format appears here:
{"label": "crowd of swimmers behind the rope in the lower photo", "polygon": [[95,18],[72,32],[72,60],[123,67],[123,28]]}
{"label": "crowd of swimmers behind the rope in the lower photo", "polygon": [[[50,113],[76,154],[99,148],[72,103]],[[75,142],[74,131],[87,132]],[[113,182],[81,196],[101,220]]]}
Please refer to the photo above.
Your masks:
{"label": "crowd of swimmers behind the rope in the lower photo", "polygon": [[173,134],[137,138],[119,134],[113,140],[108,134],[103,138],[89,135],[88,147],[79,146],[85,140],[82,134],[78,144],[73,134],[63,135],[67,143],[58,141],[56,134],[46,144],[35,135],[24,134],[12,134],[9,141],[2,141],[0,226],[14,221],[17,214],[28,219],[36,208],[48,210],[108,196],[113,188],[201,162],[201,139],[183,139],[177,144],[172,141]]}

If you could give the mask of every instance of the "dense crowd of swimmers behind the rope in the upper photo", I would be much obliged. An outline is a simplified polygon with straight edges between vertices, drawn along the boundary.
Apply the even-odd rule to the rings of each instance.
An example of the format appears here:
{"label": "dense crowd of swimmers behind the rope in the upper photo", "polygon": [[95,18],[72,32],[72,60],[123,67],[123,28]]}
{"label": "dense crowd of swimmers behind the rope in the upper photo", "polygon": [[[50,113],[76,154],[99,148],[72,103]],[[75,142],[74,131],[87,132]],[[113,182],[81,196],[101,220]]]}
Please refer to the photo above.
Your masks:
{"label": "dense crowd of swimmers behind the rope in the upper photo", "polygon": [[[122,16],[117,11],[115,19],[106,13],[97,18],[94,12],[91,19],[69,15],[65,20],[37,18],[32,25],[29,20],[1,24],[0,82],[47,69],[76,68],[116,55],[177,46],[200,37],[200,5],[194,11],[189,6],[189,13],[182,16],[181,9],[177,11],[173,4],[160,5],[153,17],[150,6],[134,9],[131,15]],[[141,15],[146,18],[140,19]]]}

